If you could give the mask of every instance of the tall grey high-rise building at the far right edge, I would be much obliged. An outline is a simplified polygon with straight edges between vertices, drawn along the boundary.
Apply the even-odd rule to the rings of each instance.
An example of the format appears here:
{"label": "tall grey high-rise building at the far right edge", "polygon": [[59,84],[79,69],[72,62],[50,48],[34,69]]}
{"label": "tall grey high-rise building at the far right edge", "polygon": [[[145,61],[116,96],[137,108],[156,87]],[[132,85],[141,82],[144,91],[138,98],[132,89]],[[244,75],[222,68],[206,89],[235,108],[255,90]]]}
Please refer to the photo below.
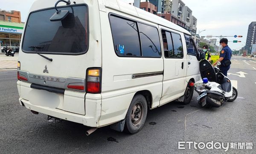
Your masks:
{"label": "tall grey high-rise building at the far right edge", "polygon": [[248,54],[252,51],[253,44],[256,44],[256,22],[251,22],[248,26],[247,31],[247,38],[246,38],[246,44],[245,44],[245,50]]}

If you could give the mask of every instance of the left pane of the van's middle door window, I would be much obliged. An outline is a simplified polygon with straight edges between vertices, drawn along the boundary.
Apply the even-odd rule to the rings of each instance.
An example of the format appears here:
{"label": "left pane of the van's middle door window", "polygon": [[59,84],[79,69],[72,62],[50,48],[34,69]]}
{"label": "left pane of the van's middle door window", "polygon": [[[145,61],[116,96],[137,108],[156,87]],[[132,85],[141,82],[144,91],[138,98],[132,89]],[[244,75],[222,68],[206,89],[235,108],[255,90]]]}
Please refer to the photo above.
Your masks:
{"label": "left pane of the van's middle door window", "polygon": [[172,44],[172,35],[168,31],[162,30],[163,37],[163,50],[164,56],[166,58],[174,58],[173,44]]}

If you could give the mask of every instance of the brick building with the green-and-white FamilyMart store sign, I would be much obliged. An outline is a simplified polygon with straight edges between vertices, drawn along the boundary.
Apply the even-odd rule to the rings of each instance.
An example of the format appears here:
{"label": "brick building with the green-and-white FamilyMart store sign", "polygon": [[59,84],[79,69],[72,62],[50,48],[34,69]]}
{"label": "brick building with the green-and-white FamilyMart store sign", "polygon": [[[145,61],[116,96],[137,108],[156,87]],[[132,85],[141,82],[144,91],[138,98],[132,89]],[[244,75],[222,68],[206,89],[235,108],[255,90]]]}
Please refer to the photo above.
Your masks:
{"label": "brick building with the green-and-white FamilyMart store sign", "polygon": [[0,11],[0,48],[8,46],[18,52],[23,27],[20,11]]}

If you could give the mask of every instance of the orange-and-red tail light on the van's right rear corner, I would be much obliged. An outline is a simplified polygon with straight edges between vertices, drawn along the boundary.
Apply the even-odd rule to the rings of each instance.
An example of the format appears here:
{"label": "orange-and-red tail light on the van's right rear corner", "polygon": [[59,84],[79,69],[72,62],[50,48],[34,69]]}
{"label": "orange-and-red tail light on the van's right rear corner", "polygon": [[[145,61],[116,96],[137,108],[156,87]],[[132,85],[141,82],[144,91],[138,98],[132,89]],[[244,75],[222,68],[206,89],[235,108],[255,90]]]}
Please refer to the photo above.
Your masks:
{"label": "orange-and-red tail light on the van's right rear corner", "polygon": [[86,92],[101,93],[101,68],[89,68],[86,74]]}

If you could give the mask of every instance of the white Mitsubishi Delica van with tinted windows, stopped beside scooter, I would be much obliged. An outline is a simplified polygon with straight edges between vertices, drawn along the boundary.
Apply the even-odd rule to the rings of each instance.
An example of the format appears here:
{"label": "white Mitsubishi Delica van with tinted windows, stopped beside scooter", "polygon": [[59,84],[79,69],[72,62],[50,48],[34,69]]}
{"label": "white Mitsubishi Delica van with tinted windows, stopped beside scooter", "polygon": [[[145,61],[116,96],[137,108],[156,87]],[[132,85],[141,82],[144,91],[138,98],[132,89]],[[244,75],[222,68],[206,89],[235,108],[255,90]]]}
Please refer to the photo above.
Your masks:
{"label": "white Mitsubishi Delica van with tinted windows, stopped beside scooter", "polygon": [[30,9],[18,62],[20,105],[134,134],[148,109],[190,102],[201,77],[188,31],[119,0],[56,1],[37,0]]}

